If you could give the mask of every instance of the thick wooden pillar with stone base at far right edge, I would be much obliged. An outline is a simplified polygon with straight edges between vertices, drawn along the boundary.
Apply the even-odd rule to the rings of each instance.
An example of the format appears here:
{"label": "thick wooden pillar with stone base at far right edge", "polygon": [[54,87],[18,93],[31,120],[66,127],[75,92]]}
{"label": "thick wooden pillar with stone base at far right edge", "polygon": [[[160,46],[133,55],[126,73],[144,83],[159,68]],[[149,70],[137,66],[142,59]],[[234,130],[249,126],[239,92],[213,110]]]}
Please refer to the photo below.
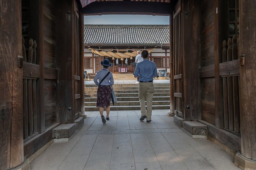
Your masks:
{"label": "thick wooden pillar with stone base at far right edge", "polygon": [[256,169],[256,1],[239,2],[241,155],[236,154],[235,164]]}

